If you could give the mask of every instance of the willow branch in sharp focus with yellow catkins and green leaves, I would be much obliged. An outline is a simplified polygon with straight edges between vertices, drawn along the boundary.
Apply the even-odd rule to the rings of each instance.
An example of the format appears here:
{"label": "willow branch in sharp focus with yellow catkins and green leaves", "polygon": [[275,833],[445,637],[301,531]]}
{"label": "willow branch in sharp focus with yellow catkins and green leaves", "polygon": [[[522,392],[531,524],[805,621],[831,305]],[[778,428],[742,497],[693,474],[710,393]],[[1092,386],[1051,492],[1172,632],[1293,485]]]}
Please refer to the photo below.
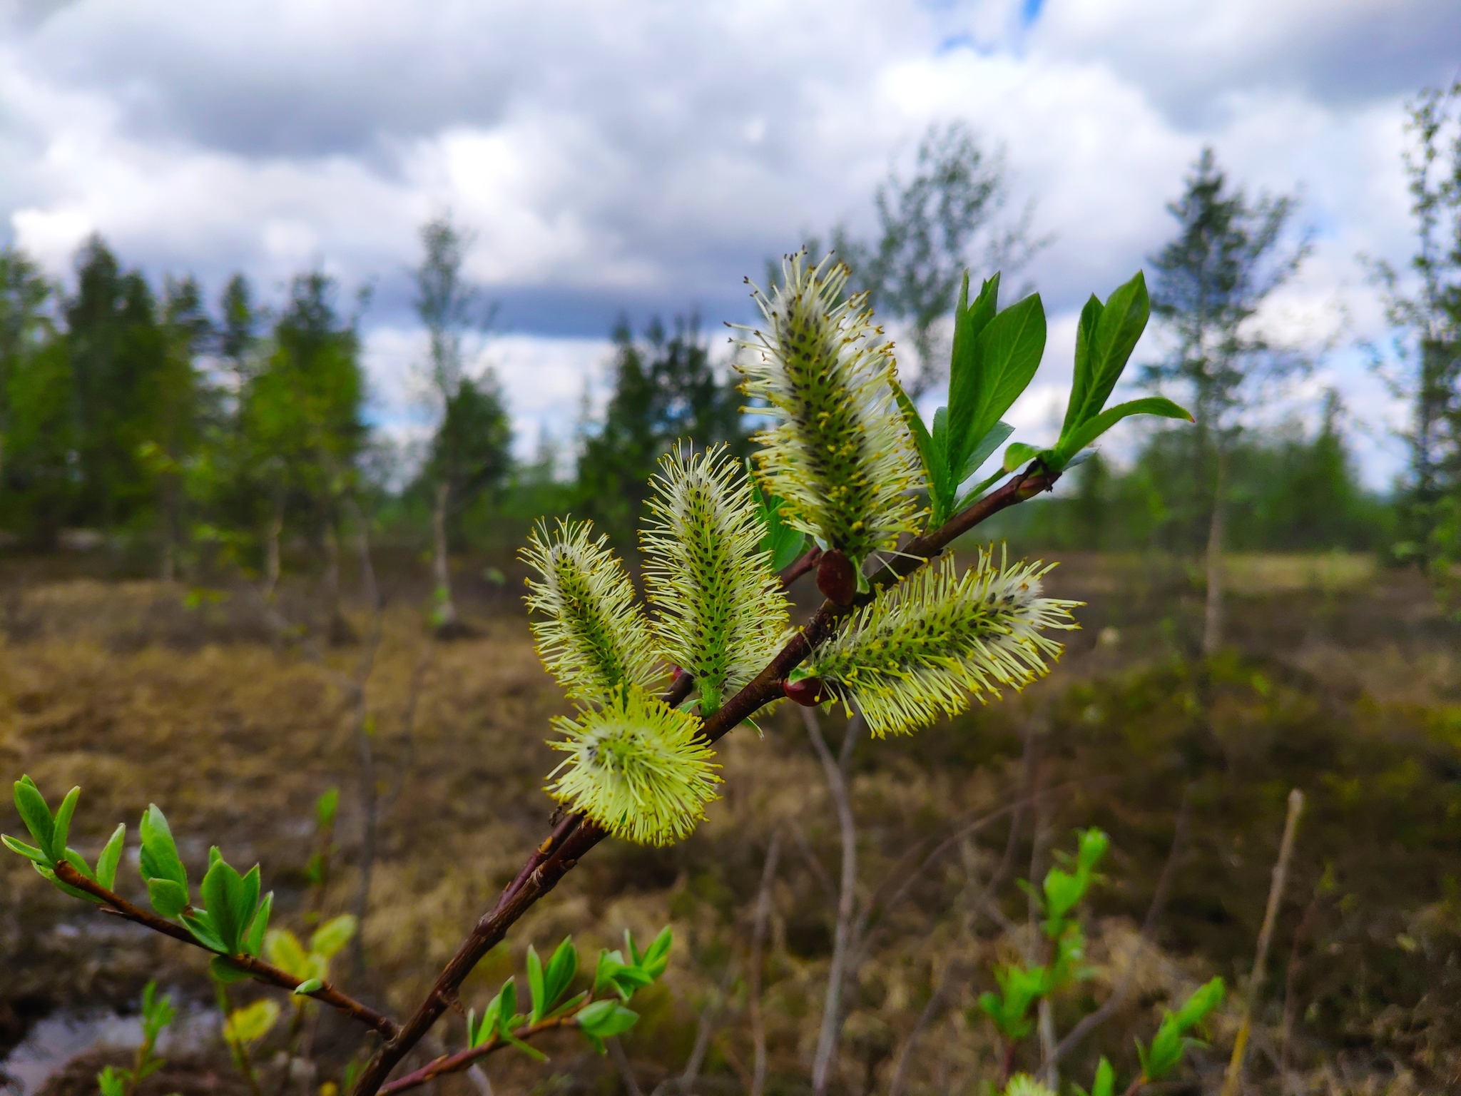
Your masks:
{"label": "willow branch in sharp focus with yellow catkins and green leaves", "polygon": [[[989,516],[1052,490],[1119,419],[1191,418],[1160,399],[1106,408],[1147,321],[1143,276],[1083,311],[1053,444],[1010,444],[979,482],[980,465],[1011,434],[1001,419],[1045,351],[1039,297],[1001,310],[998,276],[973,301],[966,276],[948,399],[929,427],[899,386],[893,343],[866,298],[844,294],[846,279],[834,259],[814,266],[799,253],[783,262],[780,285],[754,292],[763,321],[744,330],[739,368],[767,422],[761,449],[749,472],[719,449],[665,459],[643,533],[649,608],[589,523],[533,532],[523,555],[533,571],[533,633],[576,704],[552,742],[565,754],[548,777],[561,811],[403,1021],[263,957],[270,899],[260,897],[259,869],[240,874],[215,849],[194,897],[156,807],[142,827],[152,910],[114,890],[124,827],[95,868],[66,845],[77,791],[53,815],[22,777],[16,805],[37,845],[6,845],[69,894],[213,953],[221,978],[254,978],[362,1023],[380,1042],[352,1080],[356,1096],[374,1096],[409,1087],[409,1077],[387,1086],[394,1067],[459,1002],[478,962],[595,845],[608,836],[665,845],[694,830],[719,785],[714,744],[767,706],[836,700],[861,709],[878,734],[906,734],[1045,674],[1061,650],[1048,633],[1074,625],[1071,604],[1043,595],[1048,568],[985,552],[960,574],[939,557]],[[792,627],[782,587],[809,571],[825,601]],[[504,985],[492,1023],[484,1010],[469,1024],[470,1045],[427,1070],[522,1049],[551,1026],[577,1027],[590,1042],[625,1030],[622,998],[663,970],[668,934],[660,940],[644,954],[630,944],[600,959],[592,1000],[571,1016],[545,1013],[536,1000],[519,1013],[516,988]]]}

